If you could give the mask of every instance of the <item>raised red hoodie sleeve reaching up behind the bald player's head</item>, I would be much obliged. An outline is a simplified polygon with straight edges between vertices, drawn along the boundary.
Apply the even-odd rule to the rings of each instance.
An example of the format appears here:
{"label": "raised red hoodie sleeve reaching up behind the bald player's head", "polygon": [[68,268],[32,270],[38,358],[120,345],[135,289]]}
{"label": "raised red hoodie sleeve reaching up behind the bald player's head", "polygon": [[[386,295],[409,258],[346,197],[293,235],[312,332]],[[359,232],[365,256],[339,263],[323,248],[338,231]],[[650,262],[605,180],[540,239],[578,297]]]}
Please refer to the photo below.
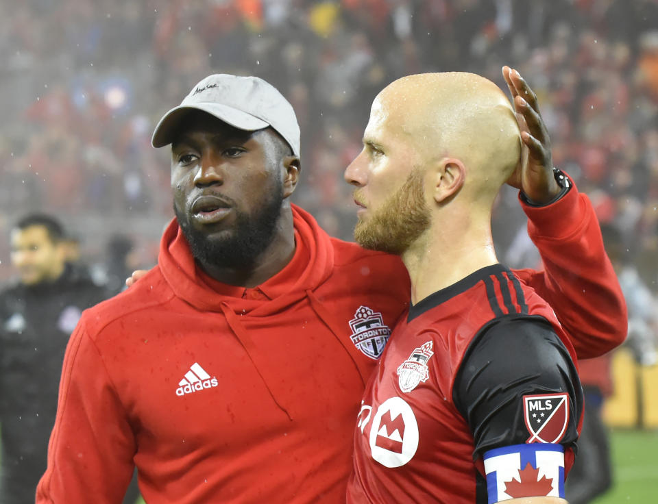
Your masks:
{"label": "raised red hoodie sleeve reaching up behind the bald player's head", "polygon": [[571,184],[561,199],[546,206],[521,200],[528,235],[545,270],[515,273],[555,310],[578,358],[597,357],[626,338],[626,302],[592,203]]}

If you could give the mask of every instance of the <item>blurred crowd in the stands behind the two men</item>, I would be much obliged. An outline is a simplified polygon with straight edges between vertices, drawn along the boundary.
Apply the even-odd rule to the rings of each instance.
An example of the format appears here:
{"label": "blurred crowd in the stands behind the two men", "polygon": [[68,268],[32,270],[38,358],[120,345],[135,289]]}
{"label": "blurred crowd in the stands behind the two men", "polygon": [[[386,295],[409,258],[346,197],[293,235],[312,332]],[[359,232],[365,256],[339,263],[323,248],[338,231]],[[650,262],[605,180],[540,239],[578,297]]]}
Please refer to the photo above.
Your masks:
{"label": "blurred crowd in the stands behind the two men", "polygon": [[[658,0],[1,0],[0,232],[52,212],[101,254],[110,234],[153,264],[171,218],[156,121],[210,73],[258,75],[302,129],[295,201],[350,238],[342,171],[376,92],[426,71],[504,89],[509,64],[539,96],[555,166],[617,227],[656,292]],[[9,120],[7,120],[9,119]],[[535,266],[516,192],[494,222],[499,256]],[[1,242],[0,242],[1,243]],[[7,257],[0,244],[0,257]],[[10,275],[0,263],[0,280]]]}

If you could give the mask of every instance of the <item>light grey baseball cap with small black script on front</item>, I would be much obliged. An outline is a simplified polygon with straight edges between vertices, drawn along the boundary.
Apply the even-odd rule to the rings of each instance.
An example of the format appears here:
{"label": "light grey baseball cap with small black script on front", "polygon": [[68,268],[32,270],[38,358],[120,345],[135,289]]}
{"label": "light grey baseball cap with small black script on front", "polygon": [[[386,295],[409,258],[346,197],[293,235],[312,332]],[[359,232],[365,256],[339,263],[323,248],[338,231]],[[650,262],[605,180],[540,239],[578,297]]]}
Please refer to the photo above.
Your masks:
{"label": "light grey baseball cap with small black script on front", "polygon": [[209,75],[178,107],[162,116],[153,132],[153,147],[170,144],[180,119],[191,109],[203,110],[245,131],[272,127],[288,142],[293,154],[300,155],[300,126],[293,106],[263,79],[226,73]]}

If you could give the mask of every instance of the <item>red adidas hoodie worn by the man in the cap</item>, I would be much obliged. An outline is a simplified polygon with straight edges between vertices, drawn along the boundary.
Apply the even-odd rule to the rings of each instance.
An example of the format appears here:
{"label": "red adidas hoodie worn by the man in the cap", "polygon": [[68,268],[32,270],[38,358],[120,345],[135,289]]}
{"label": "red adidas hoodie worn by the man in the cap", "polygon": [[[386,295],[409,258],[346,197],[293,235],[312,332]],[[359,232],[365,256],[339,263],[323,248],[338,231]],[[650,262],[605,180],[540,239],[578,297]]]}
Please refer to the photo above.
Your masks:
{"label": "red adidas hoodie worn by the man in the cap", "polygon": [[[573,193],[552,211],[578,207]],[[409,279],[398,257],[330,238],[298,207],[293,214],[293,260],[258,288],[199,273],[174,221],[158,266],[84,312],[64,359],[38,503],[121,503],[134,465],[149,504],[344,502],[364,383],[409,302]],[[569,246],[602,250],[600,236],[561,243]],[[618,310],[615,277],[599,270],[605,295],[582,304]],[[562,299],[581,321],[544,275],[521,275],[555,294],[558,314]],[[620,339],[581,332],[600,353]]]}

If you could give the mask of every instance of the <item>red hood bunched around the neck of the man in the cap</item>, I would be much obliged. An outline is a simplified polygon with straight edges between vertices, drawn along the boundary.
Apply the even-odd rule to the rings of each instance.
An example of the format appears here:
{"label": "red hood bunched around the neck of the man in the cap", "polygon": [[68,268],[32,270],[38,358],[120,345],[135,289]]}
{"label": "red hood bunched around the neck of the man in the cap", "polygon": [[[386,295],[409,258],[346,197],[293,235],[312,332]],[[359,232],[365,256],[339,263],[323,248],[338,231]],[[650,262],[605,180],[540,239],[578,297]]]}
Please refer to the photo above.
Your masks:
{"label": "red hood bunched around the neck of the man in the cap", "polygon": [[331,275],[334,260],[328,234],[308,212],[296,205],[291,208],[295,254],[279,273],[258,286],[271,299],[246,299],[243,287],[206,281],[175,218],[160,242],[158,266],[164,279],[177,297],[202,311],[223,312],[228,305],[237,314],[268,316],[285,310]]}

